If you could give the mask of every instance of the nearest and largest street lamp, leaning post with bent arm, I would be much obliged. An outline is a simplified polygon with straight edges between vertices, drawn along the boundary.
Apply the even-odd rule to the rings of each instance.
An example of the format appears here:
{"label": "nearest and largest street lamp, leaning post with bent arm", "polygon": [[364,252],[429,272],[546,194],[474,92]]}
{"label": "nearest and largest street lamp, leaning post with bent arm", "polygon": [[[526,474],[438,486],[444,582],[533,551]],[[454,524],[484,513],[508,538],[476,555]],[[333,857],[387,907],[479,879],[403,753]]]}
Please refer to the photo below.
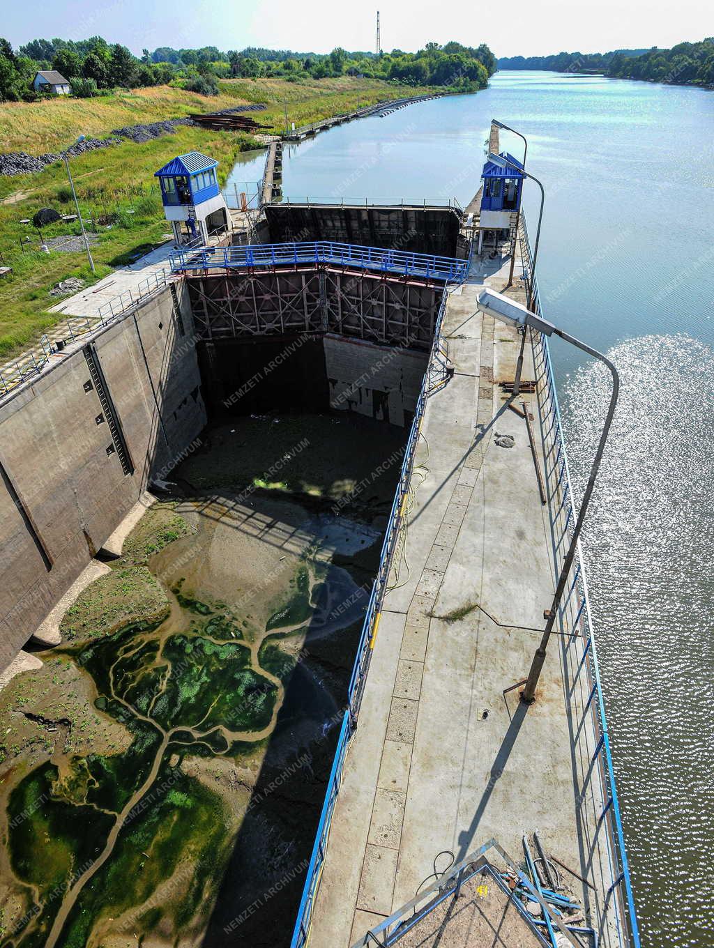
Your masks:
{"label": "nearest and largest street lamp, leaning post with bent arm", "polygon": [[580,538],[583,520],[585,520],[588,504],[590,503],[590,498],[593,494],[595,478],[597,477],[597,472],[600,467],[600,461],[602,460],[605,443],[607,442],[608,433],[613,423],[613,414],[615,405],[617,404],[617,393],[619,392],[620,381],[617,375],[617,370],[609,358],[603,356],[602,353],[597,352],[597,350],[593,349],[586,342],[581,342],[579,339],[571,336],[564,330],[558,329],[557,326],[554,326],[552,322],[548,322],[547,319],[541,319],[540,316],[537,316],[535,313],[523,306],[522,303],[516,302],[515,300],[509,300],[508,297],[503,296],[502,293],[497,293],[495,290],[485,288],[481,291],[481,293],[479,293],[476,305],[482,313],[486,313],[495,319],[501,319],[503,322],[508,322],[511,325],[518,326],[523,331],[525,331],[527,327],[530,326],[533,329],[539,330],[545,336],[558,336],[561,339],[564,339],[571,345],[576,346],[577,349],[587,353],[588,356],[593,356],[594,358],[603,362],[608,367],[610,373],[613,376],[613,391],[610,396],[610,405],[608,406],[607,414],[605,416],[605,423],[603,425],[602,433],[600,434],[600,440],[595,451],[595,459],[590,469],[588,483],[585,486],[585,491],[582,496],[582,503],[580,504],[580,510],[577,514],[577,520],[573,528],[573,536],[570,540],[570,546],[568,547],[568,551],[565,554],[565,558],[563,559],[562,568],[560,569],[560,574],[558,576],[556,592],[553,595],[553,602],[551,603],[550,609],[546,613],[545,629],[543,629],[540,645],[536,649],[536,653],[533,656],[530,671],[528,672],[528,678],[526,680],[525,687],[521,692],[522,701],[526,704],[532,704],[536,700],[536,687],[540,678],[540,671],[542,669],[543,663],[545,662],[548,641],[558,616],[558,606],[565,590],[565,586],[568,582],[568,575],[570,574],[571,567],[573,566],[573,561],[576,558],[577,541]]}

